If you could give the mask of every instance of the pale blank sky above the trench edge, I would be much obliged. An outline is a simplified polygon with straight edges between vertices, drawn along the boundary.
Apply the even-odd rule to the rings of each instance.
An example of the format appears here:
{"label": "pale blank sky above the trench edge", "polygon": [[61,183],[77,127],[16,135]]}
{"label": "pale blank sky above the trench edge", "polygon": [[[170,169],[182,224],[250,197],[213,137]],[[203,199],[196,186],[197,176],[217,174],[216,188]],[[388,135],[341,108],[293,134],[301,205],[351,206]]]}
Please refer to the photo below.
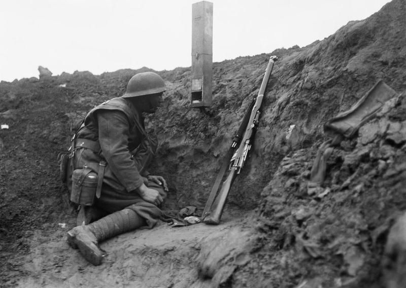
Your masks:
{"label": "pale blank sky above the trench edge", "polygon": [[[0,0],[0,80],[190,67],[191,0]],[[388,0],[212,0],[213,62],[307,46]]]}

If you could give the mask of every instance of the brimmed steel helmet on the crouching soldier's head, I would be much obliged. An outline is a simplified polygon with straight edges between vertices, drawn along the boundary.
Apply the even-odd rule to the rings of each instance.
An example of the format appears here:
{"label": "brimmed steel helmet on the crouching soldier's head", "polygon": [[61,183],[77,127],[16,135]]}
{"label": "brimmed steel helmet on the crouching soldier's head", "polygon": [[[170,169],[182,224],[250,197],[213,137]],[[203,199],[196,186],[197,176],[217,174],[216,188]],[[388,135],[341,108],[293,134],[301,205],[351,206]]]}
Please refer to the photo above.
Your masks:
{"label": "brimmed steel helmet on the crouching soldier's head", "polygon": [[137,97],[165,91],[163,79],[154,72],[143,72],[131,77],[122,97]]}

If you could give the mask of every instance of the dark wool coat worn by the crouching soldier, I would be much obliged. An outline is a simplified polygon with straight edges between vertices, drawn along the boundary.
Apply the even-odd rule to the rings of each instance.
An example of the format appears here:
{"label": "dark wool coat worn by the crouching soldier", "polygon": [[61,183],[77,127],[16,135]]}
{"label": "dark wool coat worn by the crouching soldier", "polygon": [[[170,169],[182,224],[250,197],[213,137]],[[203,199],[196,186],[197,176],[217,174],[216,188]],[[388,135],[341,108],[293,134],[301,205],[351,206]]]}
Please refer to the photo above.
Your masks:
{"label": "dark wool coat worn by the crouching soldier", "polygon": [[75,169],[86,165],[97,173],[100,161],[107,162],[101,195],[95,205],[110,213],[131,208],[152,227],[162,211],[144,201],[136,189],[145,183],[162,198],[166,193],[145,178],[149,174],[145,168],[156,151],[156,140],[146,134],[144,119],[132,103],[117,97],[96,106],[85,117],[77,138],[98,142],[99,150],[76,147]]}

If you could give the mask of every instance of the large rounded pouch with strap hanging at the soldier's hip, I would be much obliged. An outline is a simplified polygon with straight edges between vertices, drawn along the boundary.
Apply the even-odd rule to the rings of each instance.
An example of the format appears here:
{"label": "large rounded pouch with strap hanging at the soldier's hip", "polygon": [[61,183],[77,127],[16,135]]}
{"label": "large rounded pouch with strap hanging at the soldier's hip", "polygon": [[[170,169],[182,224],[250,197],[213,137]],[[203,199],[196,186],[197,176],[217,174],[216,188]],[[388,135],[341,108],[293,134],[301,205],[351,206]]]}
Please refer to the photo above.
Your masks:
{"label": "large rounded pouch with strap hanging at the soldier's hip", "polygon": [[75,169],[72,173],[71,201],[85,206],[93,205],[97,184],[97,174],[87,166]]}

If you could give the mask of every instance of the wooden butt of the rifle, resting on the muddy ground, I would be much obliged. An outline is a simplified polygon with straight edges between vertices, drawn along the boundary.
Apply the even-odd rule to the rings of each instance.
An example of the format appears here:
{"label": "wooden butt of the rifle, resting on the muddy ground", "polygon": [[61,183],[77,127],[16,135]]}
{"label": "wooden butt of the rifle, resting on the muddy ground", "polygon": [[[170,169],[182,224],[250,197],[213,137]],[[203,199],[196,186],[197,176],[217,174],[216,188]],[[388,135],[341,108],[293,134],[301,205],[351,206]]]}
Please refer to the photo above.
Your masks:
{"label": "wooden butt of the rifle, resting on the muddy ground", "polygon": [[204,218],[203,222],[206,224],[218,225],[220,223],[221,215],[223,214],[223,209],[225,201],[227,200],[228,193],[232,182],[234,181],[236,175],[236,170],[232,169],[230,174],[227,176],[223,185],[221,186],[220,192],[217,195],[216,201],[213,203],[210,212]]}

